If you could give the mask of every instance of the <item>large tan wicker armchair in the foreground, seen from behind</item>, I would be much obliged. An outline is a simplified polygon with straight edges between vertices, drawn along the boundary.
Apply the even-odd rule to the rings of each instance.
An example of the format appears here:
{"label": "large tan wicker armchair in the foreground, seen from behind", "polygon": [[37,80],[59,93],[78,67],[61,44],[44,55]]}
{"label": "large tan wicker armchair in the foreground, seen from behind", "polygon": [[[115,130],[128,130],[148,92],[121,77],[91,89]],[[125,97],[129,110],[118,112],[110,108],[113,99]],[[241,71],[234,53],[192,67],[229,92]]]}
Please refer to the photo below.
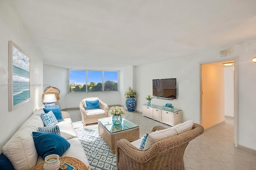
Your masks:
{"label": "large tan wicker armchair in the foreground, seen from behind", "polygon": [[[156,126],[152,131],[166,129]],[[116,166],[119,170],[185,170],[184,152],[188,143],[204,133],[204,127],[194,123],[192,130],[154,143],[148,149],[138,149],[125,139],[116,143]]]}

